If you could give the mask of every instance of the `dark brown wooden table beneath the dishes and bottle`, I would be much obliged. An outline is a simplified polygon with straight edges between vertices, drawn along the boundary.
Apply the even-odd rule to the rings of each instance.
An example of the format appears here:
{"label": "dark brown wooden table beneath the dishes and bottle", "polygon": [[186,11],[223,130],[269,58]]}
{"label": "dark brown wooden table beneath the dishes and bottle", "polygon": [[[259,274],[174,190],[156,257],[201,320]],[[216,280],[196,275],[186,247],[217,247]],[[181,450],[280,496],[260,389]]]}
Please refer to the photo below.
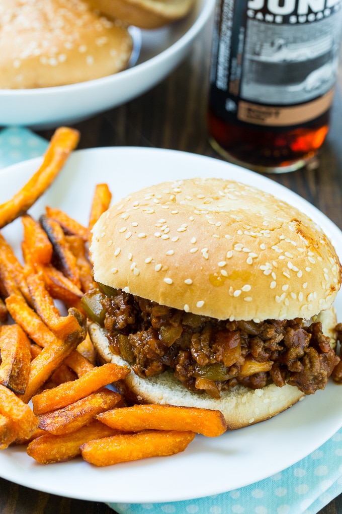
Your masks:
{"label": "dark brown wooden table beneath the dishes and bottle", "polygon": [[[220,158],[208,143],[206,109],[211,24],[190,55],[162,83],[131,102],[82,121],[78,148],[149,146]],[[335,95],[331,130],[315,170],[268,175],[327,214],[342,229],[342,74]],[[38,134],[50,139],[53,130]],[[342,321],[342,320],[339,320]],[[57,497],[0,479],[1,514],[113,514],[107,505]],[[342,495],[319,514],[342,513]],[[223,513],[224,514],[224,513]]]}

